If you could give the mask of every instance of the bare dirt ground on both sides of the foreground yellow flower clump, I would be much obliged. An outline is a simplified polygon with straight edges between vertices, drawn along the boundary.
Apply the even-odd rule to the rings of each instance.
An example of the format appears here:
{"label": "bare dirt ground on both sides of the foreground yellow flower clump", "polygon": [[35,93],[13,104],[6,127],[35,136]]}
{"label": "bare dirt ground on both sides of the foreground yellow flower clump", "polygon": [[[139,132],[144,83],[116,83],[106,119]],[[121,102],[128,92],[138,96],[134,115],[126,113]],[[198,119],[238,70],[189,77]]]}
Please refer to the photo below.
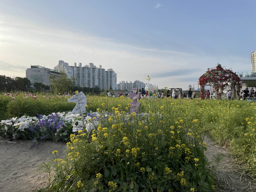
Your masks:
{"label": "bare dirt ground on both sides of the foreground yellow flower clump", "polygon": [[[205,137],[207,143],[207,158],[212,161],[217,154],[220,163],[217,166],[216,185],[223,192],[253,192],[256,185],[229,156],[228,150],[220,148]],[[2,192],[31,192],[46,187],[47,176],[36,172],[37,165],[48,162],[53,158],[52,151],[57,150],[60,158],[64,156],[66,145],[46,141],[39,148],[30,148],[32,141],[9,141],[0,137],[0,191]]]}

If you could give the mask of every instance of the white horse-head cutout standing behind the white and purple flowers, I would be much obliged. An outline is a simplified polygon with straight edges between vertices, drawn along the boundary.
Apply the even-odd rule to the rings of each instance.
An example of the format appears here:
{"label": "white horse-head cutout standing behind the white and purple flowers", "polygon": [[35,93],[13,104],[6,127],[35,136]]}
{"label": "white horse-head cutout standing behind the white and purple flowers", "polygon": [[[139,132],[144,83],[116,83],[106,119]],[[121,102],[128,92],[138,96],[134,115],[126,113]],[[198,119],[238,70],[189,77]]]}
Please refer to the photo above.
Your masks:
{"label": "white horse-head cutout standing behind the white and purple flowers", "polygon": [[73,109],[72,113],[85,113],[85,105],[86,105],[86,96],[83,92],[78,92],[73,95],[70,99],[68,99],[68,102],[74,102],[76,103],[76,107]]}

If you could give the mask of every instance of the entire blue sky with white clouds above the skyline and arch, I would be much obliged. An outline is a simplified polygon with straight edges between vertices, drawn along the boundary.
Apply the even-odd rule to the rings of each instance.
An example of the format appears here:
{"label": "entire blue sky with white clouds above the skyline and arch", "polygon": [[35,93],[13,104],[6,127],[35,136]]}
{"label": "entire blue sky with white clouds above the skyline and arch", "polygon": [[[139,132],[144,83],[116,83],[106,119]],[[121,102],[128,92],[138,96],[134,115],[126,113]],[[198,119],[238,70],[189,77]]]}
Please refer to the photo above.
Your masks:
{"label": "entire blue sky with white clouds above the skyline and arch", "polygon": [[251,71],[255,0],[0,0],[0,75],[59,60],[112,68],[120,81],[195,84],[217,63]]}

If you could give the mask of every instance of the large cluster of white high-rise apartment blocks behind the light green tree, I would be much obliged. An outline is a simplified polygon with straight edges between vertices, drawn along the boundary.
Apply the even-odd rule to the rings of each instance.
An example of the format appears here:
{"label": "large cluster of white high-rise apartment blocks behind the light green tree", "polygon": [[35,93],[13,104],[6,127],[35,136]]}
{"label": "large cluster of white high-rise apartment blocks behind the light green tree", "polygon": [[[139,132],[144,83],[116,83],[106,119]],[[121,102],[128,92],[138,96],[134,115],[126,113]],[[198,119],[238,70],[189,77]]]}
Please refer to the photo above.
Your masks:
{"label": "large cluster of white high-rise apartment blocks behind the light green tree", "polygon": [[116,73],[113,69],[107,69],[99,66],[97,68],[93,63],[82,67],[82,63],[74,63],[74,66],[69,66],[68,63],[60,60],[59,65],[54,67],[56,71],[67,73],[68,77],[76,78],[76,86],[95,88],[100,90],[113,89],[116,90]]}

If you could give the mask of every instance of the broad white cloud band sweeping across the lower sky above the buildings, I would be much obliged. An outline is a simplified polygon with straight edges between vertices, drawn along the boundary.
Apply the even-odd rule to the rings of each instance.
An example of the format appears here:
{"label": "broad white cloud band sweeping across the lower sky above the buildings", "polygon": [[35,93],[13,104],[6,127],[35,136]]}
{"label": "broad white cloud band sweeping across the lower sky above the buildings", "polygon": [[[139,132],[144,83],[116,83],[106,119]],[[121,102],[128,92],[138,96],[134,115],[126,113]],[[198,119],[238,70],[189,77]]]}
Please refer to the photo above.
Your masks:
{"label": "broad white cloud band sweeping across the lower sky above the buildings", "polygon": [[236,69],[244,67],[247,61],[233,56],[216,58],[201,52],[193,54],[176,49],[143,47],[85,32],[50,28],[3,13],[0,13],[0,20],[1,16],[0,75],[24,77],[30,63],[53,68],[58,60],[64,60],[69,65],[92,62],[105,69],[113,68],[117,73],[117,83],[136,79],[145,82],[149,75],[151,83],[159,88],[170,87],[173,83],[185,88],[188,84],[196,84],[204,71],[215,67],[217,61],[227,68],[231,67],[231,61]]}

